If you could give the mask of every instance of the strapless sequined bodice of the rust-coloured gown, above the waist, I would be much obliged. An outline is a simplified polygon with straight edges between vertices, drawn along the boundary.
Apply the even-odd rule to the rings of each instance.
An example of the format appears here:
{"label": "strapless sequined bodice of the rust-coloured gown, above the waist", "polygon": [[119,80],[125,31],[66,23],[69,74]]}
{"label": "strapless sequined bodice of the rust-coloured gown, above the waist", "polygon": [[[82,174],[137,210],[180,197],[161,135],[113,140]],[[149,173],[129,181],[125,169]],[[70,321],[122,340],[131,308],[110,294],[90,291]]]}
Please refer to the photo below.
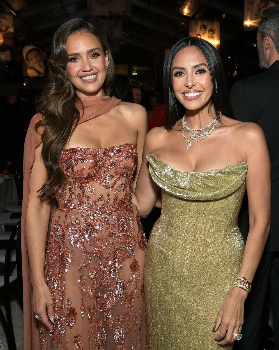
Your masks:
{"label": "strapless sequined bodice of the rust-coloured gown, above the waist", "polygon": [[132,203],[132,178],[137,166],[132,144],[109,148],[69,148],[60,157],[65,187],[56,193],[60,211],[114,211]]}

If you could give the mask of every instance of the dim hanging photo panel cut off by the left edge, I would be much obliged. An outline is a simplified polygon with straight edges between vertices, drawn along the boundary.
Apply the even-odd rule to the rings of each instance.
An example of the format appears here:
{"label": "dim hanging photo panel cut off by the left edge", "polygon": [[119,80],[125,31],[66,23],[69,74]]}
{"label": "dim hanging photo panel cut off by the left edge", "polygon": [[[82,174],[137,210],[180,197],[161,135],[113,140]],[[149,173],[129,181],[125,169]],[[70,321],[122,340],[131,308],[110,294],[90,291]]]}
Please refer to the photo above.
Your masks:
{"label": "dim hanging photo panel cut off by the left edge", "polygon": [[0,61],[10,61],[14,48],[14,16],[0,14]]}

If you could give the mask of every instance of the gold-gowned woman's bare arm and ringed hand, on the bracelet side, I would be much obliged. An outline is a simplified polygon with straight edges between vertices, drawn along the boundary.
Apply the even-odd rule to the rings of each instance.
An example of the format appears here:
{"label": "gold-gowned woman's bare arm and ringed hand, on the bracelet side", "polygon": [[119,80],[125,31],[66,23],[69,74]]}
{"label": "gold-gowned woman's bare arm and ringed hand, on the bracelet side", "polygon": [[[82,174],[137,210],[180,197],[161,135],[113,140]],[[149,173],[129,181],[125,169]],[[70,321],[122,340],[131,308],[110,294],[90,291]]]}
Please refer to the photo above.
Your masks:
{"label": "gold-gowned woman's bare arm and ringed hand, on the bracelet side", "polygon": [[[256,124],[249,124],[250,131],[245,134],[245,155],[248,164],[246,186],[249,203],[250,229],[246,242],[239,275],[251,282],[262,257],[270,226],[270,160],[262,129]],[[235,276],[236,277],[236,276]],[[221,323],[221,329],[215,340],[225,345],[236,338],[233,332],[240,333],[243,324],[243,308],[247,292],[235,287],[222,305],[213,331]]]}

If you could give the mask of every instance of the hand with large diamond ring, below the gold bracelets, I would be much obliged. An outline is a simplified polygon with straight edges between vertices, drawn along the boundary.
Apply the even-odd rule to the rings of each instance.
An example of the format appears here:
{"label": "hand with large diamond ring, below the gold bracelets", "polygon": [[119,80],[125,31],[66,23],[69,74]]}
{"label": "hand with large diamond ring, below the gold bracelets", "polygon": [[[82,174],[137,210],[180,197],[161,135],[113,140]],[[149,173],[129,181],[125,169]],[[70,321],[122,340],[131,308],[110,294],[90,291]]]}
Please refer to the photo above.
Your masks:
{"label": "hand with large diamond ring, below the gold bracelets", "polygon": [[227,345],[236,341],[233,333],[239,334],[241,332],[246,297],[246,290],[235,287],[221,306],[213,327],[213,332],[216,332],[221,324],[219,334],[214,338],[219,342],[219,345]]}

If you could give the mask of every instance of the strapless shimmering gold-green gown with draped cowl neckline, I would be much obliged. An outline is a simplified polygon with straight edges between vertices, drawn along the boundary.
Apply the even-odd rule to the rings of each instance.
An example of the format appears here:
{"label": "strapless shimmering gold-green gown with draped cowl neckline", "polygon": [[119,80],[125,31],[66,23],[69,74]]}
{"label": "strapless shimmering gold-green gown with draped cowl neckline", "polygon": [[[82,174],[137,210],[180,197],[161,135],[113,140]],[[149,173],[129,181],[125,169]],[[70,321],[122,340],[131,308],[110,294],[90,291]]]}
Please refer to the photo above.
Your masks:
{"label": "strapless shimmering gold-green gown with draped cowl neckline", "polygon": [[162,191],[144,271],[148,350],[220,349],[212,329],[243,257],[247,163],[190,173],[147,159]]}

